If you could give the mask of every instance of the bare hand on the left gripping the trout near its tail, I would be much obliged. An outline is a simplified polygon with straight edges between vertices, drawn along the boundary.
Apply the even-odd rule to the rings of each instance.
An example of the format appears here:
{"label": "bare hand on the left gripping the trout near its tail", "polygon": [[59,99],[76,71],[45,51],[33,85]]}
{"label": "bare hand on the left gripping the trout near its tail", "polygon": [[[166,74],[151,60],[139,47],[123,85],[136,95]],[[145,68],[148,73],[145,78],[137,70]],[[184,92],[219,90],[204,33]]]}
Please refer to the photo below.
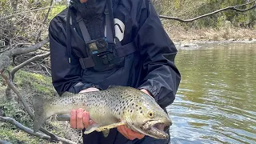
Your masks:
{"label": "bare hand on the left gripping the trout near its tail", "polygon": [[[98,91],[97,88],[90,87],[86,90],[81,90],[79,93],[86,93],[90,91]],[[73,129],[84,129],[94,122],[90,120],[90,114],[87,111],[84,111],[82,108],[78,110],[71,110],[70,112],[70,126]]]}

